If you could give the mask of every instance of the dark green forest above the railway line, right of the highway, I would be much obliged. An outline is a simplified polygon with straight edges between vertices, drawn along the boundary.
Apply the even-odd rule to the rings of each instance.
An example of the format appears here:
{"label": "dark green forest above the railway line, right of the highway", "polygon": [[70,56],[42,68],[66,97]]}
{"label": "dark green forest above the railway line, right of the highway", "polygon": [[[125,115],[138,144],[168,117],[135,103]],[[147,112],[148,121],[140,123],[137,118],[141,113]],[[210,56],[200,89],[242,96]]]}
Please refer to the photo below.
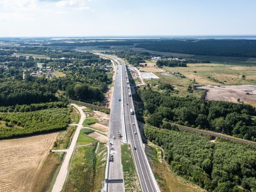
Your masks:
{"label": "dark green forest above the railway line, right of the highway", "polygon": [[251,118],[256,115],[254,107],[226,101],[175,97],[172,87],[164,86],[167,90],[162,93],[150,88],[137,89],[145,105],[144,114],[148,116],[148,124],[162,127],[164,120],[256,141],[256,122]]}

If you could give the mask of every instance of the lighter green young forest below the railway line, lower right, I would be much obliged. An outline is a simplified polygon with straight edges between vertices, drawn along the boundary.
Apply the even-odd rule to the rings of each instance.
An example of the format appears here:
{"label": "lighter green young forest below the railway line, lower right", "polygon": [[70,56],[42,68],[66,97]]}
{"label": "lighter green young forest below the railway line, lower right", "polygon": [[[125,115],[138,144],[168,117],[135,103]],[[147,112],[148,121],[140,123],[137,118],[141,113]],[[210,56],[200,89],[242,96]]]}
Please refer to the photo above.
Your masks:
{"label": "lighter green young forest below the railway line, lower right", "polygon": [[165,151],[170,168],[209,192],[255,192],[256,146],[145,125],[146,138]]}

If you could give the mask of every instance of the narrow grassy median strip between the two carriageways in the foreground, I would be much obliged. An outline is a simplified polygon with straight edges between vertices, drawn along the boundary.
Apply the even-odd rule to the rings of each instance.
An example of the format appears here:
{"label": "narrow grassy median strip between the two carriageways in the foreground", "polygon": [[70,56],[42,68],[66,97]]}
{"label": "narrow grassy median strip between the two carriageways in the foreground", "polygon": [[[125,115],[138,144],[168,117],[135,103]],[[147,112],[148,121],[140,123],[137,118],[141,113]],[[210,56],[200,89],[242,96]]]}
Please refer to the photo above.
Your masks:
{"label": "narrow grassy median strip between the two carriageways in the foreground", "polygon": [[126,192],[142,192],[129,144],[121,146],[121,158]]}

